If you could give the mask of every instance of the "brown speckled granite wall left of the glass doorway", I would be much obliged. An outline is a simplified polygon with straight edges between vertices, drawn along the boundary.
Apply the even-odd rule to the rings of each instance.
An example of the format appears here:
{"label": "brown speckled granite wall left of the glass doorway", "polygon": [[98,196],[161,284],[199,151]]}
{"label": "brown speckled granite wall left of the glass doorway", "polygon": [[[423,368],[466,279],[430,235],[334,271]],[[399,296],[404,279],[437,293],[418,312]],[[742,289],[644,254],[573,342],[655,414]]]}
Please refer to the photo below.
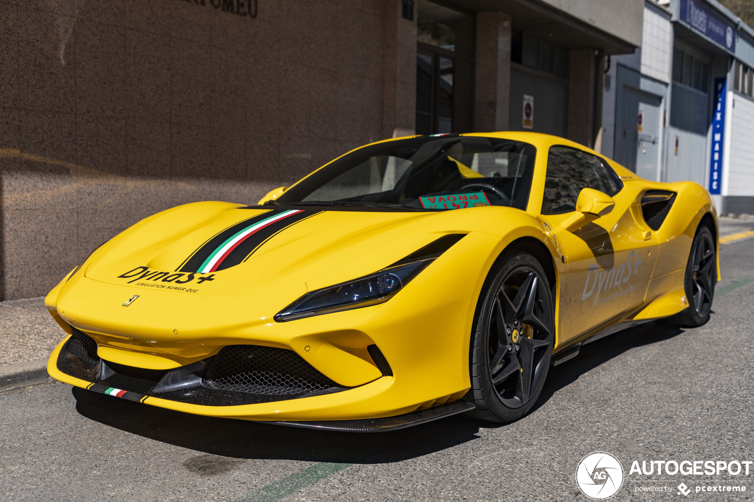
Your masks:
{"label": "brown speckled granite wall left of the glass doorway", "polygon": [[156,211],[256,203],[412,129],[382,99],[400,0],[249,3],[0,0],[0,299],[46,294]]}

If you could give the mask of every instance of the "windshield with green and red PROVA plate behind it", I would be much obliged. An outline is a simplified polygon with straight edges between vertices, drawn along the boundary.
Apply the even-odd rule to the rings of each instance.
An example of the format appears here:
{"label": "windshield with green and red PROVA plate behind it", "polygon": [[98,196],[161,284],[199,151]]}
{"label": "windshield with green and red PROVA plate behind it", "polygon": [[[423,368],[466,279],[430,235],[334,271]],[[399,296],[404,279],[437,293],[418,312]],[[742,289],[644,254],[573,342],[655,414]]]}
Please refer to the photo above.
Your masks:
{"label": "windshield with green and red PROVA plate behind it", "polygon": [[535,153],[529,143],[478,136],[385,141],[333,161],[275,203],[526,209]]}

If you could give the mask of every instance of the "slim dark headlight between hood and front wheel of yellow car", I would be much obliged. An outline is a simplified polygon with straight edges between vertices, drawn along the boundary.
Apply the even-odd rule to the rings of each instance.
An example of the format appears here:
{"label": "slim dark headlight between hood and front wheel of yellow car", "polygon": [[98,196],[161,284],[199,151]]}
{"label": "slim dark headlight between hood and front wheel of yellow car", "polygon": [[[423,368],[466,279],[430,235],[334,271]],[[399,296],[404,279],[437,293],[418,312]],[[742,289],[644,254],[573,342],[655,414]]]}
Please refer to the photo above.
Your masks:
{"label": "slim dark headlight between hood and front wheel of yellow car", "polygon": [[435,259],[436,257],[432,257],[428,260],[392,266],[354,281],[312,291],[275,315],[274,320],[277,322],[294,321],[313,315],[385,303]]}

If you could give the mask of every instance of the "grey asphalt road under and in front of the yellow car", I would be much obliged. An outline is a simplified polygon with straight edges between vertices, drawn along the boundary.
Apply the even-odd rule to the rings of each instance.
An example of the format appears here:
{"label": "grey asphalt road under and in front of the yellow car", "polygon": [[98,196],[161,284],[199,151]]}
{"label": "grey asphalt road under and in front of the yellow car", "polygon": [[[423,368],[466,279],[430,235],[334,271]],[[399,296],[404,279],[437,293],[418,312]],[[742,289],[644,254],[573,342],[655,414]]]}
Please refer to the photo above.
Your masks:
{"label": "grey asphalt road under and in front of the yellow car", "polygon": [[[680,482],[696,500],[749,500],[754,464],[752,476],[629,473],[634,460],[754,461],[754,240],[721,254],[710,322],[645,324],[586,345],[550,370],[535,409],[511,424],[452,417],[386,434],[320,433],[62,383],[0,394],[0,500],[588,500],[575,470],[596,450],[624,467],[611,500],[685,498]],[[746,491],[696,492],[731,484]]]}

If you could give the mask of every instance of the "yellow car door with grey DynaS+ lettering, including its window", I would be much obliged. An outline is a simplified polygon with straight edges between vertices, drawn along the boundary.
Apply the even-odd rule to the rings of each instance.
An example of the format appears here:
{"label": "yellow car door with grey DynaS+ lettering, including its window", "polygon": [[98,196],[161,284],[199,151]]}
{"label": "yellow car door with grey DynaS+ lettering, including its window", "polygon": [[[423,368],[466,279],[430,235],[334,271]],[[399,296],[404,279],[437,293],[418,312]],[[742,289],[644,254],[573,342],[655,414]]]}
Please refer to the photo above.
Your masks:
{"label": "yellow car door with grey DynaS+ lettering, including its window", "polygon": [[[559,345],[611,324],[644,302],[659,243],[642,220],[635,185],[624,185],[596,155],[550,147],[540,218],[553,230],[568,267],[560,288]],[[574,214],[578,194],[587,187],[607,193],[615,207],[569,232],[561,223]]]}

